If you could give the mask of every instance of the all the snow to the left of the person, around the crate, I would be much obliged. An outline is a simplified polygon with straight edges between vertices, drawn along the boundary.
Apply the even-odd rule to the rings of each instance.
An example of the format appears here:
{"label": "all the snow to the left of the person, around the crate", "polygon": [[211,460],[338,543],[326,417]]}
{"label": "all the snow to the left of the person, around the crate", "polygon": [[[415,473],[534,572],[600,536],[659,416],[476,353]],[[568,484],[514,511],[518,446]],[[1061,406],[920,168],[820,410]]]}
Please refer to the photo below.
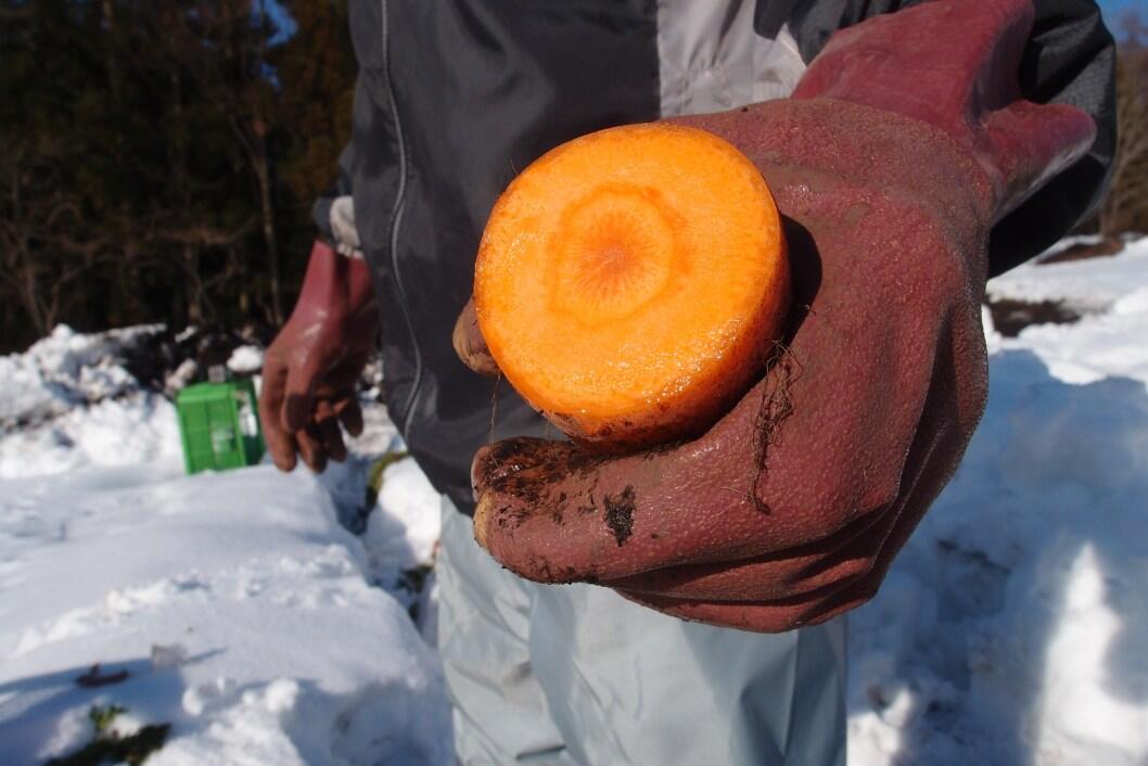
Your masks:
{"label": "all the snow to the left of the person, around the crate", "polygon": [[[0,358],[0,764],[73,751],[109,704],[125,734],[173,725],[158,766],[450,763],[437,659],[408,613],[419,594],[397,588],[430,562],[437,496],[419,519],[433,490],[406,461],[367,535],[340,524],[401,446],[385,409],[323,477],[185,477],[174,407],[121,361],[153,332],[59,327]],[[261,361],[240,347],[228,366]],[[127,679],[78,686],[95,664]]]}

